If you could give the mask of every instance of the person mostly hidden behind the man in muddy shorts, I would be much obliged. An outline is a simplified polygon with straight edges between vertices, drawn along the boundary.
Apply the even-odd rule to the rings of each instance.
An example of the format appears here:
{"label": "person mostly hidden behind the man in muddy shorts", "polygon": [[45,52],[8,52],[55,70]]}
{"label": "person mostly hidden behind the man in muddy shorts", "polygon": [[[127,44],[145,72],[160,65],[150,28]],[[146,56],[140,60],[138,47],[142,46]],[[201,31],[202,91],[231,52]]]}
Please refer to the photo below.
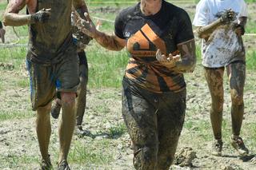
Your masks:
{"label": "person mostly hidden behind the man in muddy shorts", "polygon": [[[86,34],[83,34],[73,20],[72,23],[72,33],[73,33],[73,41],[74,44],[77,46],[77,52],[79,57],[79,78],[80,83],[78,85],[78,97],[76,101],[76,128],[75,133],[79,136],[86,135],[86,130],[82,128],[82,120],[86,110],[86,85],[88,82],[88,63],[86,58],[85,48],[86,45],[90,42],[91,38]],[[60,99],[55,99],[51,109],[51,115],[55,119],[58,118],[60,114],[60,110],[62,107],[62,102]]]}

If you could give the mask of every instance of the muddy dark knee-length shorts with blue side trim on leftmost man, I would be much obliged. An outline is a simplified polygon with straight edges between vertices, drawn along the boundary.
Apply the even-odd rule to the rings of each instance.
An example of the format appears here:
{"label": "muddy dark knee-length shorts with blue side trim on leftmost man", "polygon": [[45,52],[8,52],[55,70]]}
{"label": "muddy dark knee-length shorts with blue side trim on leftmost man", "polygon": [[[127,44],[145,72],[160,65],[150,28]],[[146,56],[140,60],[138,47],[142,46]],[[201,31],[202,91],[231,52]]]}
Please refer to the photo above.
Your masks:
{"label": "muddy dark knee-length shorts with blue side trim on leftmost man", "polygon": [[[70,54],[70,53],[69,53]],[[77,91],[79,84],[78,55],[66,57],[58,64],[42,65],[26,60],[27,70],[30,73],[30,99],[32,109],[46,106],[54,99],[57,90],[57,97],[60,92]]]}

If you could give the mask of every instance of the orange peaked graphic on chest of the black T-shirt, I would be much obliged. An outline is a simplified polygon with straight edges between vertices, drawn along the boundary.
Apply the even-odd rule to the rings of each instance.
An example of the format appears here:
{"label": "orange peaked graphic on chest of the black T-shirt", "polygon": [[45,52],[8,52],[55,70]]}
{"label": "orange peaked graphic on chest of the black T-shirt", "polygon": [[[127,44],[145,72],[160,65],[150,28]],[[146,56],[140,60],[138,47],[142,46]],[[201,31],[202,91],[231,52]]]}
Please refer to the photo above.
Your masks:
{"label": "orange peaked graphic on chest of the black T-shirt", "polygon": [[160,49],[162,53],[166,53],[166,44],[146,24],[128,39],[127,49],[134,57],[155,57],[157,49]]}

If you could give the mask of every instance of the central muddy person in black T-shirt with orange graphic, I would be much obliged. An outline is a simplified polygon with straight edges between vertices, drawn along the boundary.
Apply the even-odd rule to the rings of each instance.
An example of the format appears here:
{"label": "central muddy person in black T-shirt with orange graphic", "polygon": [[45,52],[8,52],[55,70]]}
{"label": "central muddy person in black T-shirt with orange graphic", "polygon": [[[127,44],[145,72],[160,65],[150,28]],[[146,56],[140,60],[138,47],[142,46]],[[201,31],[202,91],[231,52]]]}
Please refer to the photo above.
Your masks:
{"label": "central muddy person in black T-shirt with orange graphic", "polygon": [[106,49],[126,46],[122,115],[134,144],[134,167],[169,169],[185,117],[183,73],[196,63],[188,14],[164,0],[141,0],[118,14],[113,35],[96,30],[90,18],[77,22]]}

